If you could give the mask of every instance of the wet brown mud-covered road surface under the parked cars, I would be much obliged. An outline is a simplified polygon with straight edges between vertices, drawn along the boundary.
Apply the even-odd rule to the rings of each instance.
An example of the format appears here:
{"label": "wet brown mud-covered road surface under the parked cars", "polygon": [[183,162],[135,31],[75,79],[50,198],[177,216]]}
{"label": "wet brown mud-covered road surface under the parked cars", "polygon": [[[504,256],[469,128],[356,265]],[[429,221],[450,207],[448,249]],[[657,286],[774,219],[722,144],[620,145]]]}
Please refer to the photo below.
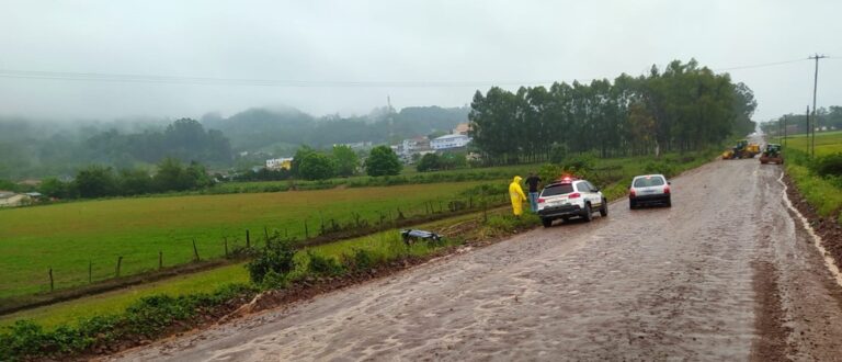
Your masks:
{"label": "wet brown mud-covered road surface under the parked cars", "polygon": [[842,360],[841,289],[759,163],[113,358]]}

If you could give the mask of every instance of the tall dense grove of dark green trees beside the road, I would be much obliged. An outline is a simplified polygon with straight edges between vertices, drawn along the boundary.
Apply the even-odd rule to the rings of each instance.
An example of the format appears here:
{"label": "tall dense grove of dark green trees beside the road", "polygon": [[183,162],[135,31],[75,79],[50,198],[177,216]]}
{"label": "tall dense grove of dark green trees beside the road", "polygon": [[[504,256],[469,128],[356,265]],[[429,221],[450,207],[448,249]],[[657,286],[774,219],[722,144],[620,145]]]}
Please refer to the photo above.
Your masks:
{"label": "tall dense grove of dark green trees beside the road", "polygon": [[696,60],[652,66],[637,78],[477,91],[470,135],[489,163],[544,161],[567,152],[659,155],[718,145],[748,134],[756,108],[748,86]]}

